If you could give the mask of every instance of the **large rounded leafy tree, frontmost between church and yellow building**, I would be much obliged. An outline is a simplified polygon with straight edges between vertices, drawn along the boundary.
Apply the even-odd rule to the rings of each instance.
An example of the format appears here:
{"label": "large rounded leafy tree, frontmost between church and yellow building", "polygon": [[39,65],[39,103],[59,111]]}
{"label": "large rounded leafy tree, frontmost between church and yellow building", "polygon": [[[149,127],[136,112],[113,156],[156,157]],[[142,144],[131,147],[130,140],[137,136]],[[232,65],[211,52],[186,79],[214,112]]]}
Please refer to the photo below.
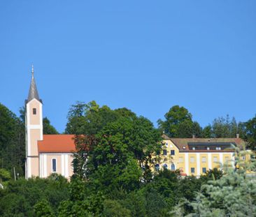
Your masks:
{"label": "large rounded leafy tree, frontmost between church and yellow building", "polygon": [[150,165],[157,160],[153,156],[161,149],[161,137],[150,121],[122,117],[107,124],[96,137],[89,158],[83,162],[87,163],[85,177],[98,188],[134,190],[142,178],[151,179]]}

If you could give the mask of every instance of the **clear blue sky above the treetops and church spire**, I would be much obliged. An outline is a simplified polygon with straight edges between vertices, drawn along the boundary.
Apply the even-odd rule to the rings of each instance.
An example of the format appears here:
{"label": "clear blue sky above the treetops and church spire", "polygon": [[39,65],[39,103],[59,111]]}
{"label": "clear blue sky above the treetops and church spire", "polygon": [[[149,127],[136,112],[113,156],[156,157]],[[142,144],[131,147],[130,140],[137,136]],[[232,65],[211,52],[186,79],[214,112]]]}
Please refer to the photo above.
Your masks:
{"label": "clear blue sky above the treetops and church spire", "polygon": [[18,114],[34,64],[61,133],[77,100],[156,124],[173,105],[201,126],[256,113],[256,1],[0,1],[0,103]]}

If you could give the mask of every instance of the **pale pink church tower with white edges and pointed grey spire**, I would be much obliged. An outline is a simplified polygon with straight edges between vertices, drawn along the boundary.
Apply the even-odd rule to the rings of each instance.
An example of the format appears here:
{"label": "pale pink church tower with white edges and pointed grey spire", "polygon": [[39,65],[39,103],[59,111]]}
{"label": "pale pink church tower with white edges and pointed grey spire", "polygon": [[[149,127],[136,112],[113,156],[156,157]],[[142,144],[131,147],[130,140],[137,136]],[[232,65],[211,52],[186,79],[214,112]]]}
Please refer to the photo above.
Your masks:
{"label": "pale pink church tower with white edges and pointed grey spire", "polygon": [[38,140],[43,140],[43,103],[39,98],[34,79],[34,67],[25,100],[26,110],[26,179],[39,176]]}

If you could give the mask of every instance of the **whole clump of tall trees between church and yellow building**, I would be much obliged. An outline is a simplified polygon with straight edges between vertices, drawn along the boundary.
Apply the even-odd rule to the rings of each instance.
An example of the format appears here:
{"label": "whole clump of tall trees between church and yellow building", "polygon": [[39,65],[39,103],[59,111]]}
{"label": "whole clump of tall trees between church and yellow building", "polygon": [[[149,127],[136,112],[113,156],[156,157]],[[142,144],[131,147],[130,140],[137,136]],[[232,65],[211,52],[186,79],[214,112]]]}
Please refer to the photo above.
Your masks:
{"label": "whole clump of tall trees between church and yellow building", "polygon": [[[79,127],[71,124],[77,118],[82,118]],[[162,139],[148,119],[126,108],[111,110],[92,102],[71,109],[67,127],[80,133],[75,140],[75,176],[108,190],[133,190],[141,179],[152,178],[150,165],[158,159]]]}

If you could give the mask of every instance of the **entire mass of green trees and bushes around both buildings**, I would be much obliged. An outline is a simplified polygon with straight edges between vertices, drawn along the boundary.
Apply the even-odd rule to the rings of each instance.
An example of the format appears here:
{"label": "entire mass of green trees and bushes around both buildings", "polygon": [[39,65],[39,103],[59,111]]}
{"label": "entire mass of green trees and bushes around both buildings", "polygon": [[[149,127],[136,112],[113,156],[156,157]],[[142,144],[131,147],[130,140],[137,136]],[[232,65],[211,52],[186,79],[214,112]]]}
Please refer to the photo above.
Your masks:
{"label": "entire mass of green trees and bushes around both buildings", "polygon": [[[24,112],[21,119],[2,105],[0,112],[3,114],[0,116],[1,148],[7,156],[15,156],[13,151],[17,150],[20,154],[17,135],[19,130],[24,130]],[[215,119],[212,126],[203,130],[184,107],[172,107],[165,117],[166,121],[159,121],[159,126],[166,128],[169,135],[234,137],[236,133],[246,132],[250,147],[255,147],[256,117],[245,124],[236,124],[234,119]],[[44,123],[45,133],[57,133],[48,119],[45,118]],[[150,165],[158,162],[155,156],[162,150],[161,133],[148,119],[137,117],[126,108],[111,110],[94,101],[73,105],[66,133],[76,134],[78,148],[73,161],[75,174],[70,182],[57,174],[48,179],[11,181],[13,165],[19,170],[19,161],[13,157],[12,163],[0,154],[7,160],[3,163],[8,165],[8,170],[0,169],[0,182],[4,182],[4,189],[0,189],[0,216],[255,214],[255,181],[247,179],[244,163],[225,174],[221,170],[210,170],[199,179],[180,177],[178,170],[152,172]]]}

